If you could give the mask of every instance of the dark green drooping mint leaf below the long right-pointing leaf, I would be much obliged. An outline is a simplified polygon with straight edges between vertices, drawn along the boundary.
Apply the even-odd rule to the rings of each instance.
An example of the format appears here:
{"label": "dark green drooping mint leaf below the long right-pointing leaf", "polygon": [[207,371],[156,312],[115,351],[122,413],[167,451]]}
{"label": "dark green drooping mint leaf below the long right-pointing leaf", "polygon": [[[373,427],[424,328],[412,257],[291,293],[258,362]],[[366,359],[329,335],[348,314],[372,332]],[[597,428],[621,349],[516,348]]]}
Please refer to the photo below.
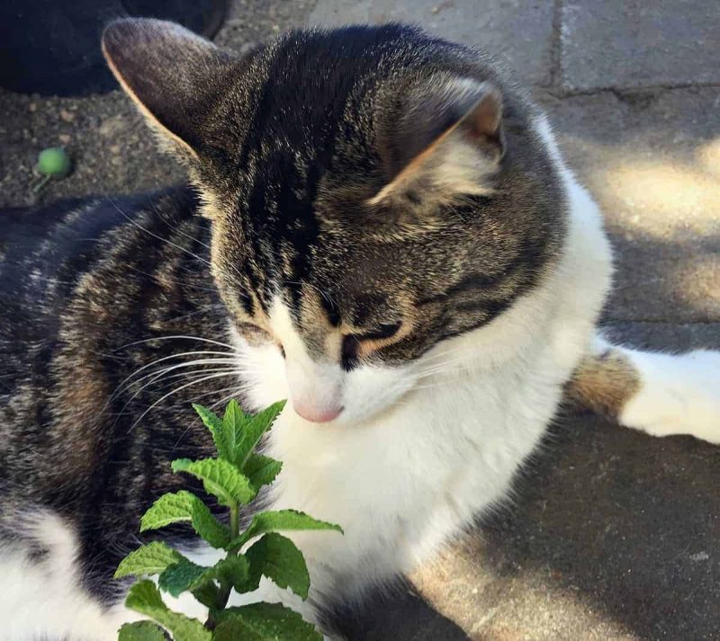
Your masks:
{"label": "dark green drooping mint leaf below the long right-pointing leaf", "polygon": [[253,574],[264,574],[281,588],[290,588],[302,598],[308,598],[310,574],[305,558],[292,540],[276,532],[269,532],[253,543],[245,556]]}

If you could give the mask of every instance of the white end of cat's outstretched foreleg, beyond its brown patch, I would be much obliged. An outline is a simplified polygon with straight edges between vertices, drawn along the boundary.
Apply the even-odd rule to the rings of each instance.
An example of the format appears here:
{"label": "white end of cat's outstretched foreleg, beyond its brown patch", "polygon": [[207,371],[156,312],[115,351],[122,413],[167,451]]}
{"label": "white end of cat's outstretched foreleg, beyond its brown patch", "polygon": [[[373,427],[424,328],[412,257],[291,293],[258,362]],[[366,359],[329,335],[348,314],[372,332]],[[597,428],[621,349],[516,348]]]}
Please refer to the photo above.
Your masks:
{"label": "white end of cat's outstretched foreleg, beyond its brown patch", "polygon": [[691,434],[720,444],[720,352],[632,352],[639,390],[620,422],[653,436]]}

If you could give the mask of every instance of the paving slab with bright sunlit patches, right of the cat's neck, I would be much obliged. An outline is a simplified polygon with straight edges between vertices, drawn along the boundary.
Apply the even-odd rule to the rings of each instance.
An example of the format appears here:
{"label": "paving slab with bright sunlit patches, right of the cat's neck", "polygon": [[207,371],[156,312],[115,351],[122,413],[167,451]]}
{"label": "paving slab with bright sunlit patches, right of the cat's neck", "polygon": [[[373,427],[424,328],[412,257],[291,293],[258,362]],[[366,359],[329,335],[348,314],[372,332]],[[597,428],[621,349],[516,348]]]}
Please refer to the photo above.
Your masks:
{"label": "paving slab with bright sunlit patches, right of the cat's neck", "polygon": [[607,317],[720,320],[720,87],[542,101],[616,249]]}

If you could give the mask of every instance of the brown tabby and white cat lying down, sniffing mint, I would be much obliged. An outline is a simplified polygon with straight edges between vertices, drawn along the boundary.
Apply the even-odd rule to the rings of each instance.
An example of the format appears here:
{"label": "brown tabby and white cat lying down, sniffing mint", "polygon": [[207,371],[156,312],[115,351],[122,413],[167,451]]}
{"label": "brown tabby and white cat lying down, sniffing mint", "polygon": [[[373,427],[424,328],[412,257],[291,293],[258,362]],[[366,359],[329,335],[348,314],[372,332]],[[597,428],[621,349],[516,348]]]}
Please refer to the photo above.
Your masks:
{"label": "brown tabby and white cat lying down, sniffing mint", "polygon": [[3,638],[113,639],[137,618],[112,572],[187,483],[169,462],[212,454],[191,400],[289,399],[266,503],[345,535],[293,533],[308,601],[250,599],[320,625],[501,502],[563,398],[720,442],[720,353],[602,338],[599,210],[481,53],[399,24],[240,56],[123,19],[102,45],[193,187],[3,214]]}

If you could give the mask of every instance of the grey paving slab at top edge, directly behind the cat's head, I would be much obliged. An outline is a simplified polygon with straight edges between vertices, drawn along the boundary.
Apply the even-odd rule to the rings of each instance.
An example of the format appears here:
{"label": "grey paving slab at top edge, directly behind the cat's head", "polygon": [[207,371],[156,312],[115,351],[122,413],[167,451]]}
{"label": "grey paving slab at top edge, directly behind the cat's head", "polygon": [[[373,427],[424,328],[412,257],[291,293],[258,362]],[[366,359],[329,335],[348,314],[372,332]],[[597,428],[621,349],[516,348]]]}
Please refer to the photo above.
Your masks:
{"label": "grey paving slab at top edge, directly behind the cat's head", "polygon": [[414,22],[497,56],[522,82],[549,85],[553,3],[533,0],[320,0],[309,22],[325,26]]}

